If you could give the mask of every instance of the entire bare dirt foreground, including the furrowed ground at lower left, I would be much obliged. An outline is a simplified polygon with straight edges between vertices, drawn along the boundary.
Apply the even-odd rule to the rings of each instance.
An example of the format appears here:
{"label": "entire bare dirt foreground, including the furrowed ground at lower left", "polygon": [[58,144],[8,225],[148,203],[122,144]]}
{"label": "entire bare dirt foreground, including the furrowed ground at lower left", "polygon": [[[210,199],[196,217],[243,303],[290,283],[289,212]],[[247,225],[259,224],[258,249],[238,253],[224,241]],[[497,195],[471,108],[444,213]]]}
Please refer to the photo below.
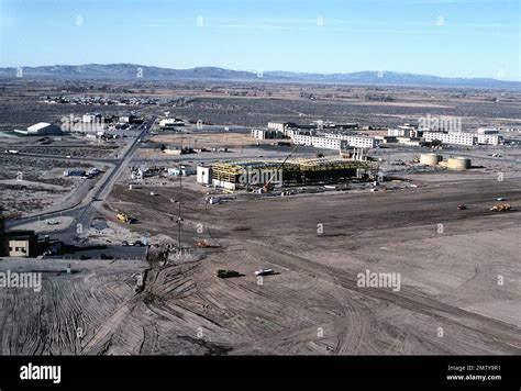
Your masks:
{"label": "entire bare dirt foreground, including the furrowed ground at lower left", "polygon": [[[176,212],[167,199],[179,193],[162,191],[164,200],[152,200],[115,188],[110,204],[129,212],[142,204],[140,223],[129,227],[174,242]],[[184,242],[207,239],[202,259],[154,264],[138,293],[132,276],[146,264],[100,261],[90,280],[95,271],[81,262],[77,275],[47,273],[43,290],[53,289],[55,299],[42,295],[38,311],[59,314],[49,323],[55,328],[84,325],[86,337],[49,332],[12,346],[16,328],[5,324],[2,353],[519,354],[520,214],[490,212],[498,193],[521,202],[519,187],[483,180],[215,206],[188,190]],[[462,202],[468,210],[456,209]],[[260,267],[277,273],[259,281],[253,271]],[[244,276],[221,280],[220,268]],[[400,273],[400,290],[358,287],[357,273],[367,269]],[[2,308],[16,319],[22,306],[14,303],[33,294],[2,292]],[[78,312],[86,300],[92,305]]]}

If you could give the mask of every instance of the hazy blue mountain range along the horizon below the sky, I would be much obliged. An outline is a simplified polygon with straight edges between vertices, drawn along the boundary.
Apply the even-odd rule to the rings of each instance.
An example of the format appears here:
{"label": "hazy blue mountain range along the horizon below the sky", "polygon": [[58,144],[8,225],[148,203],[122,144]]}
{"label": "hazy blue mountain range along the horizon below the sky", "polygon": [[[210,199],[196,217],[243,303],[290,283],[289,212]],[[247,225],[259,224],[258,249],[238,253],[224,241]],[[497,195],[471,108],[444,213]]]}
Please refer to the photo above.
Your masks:
{"label": "hazy blue mountain range along the horizon below the sky", "polygon": [[[0,78],[15,78],[19,68],[0,68]],[[215,81],[274,81],[274,82],[321,82],[339,85],[387,85],[424,87],[467,87],[521,89],[521,81],[491,78],[445,78],[429,75],[402,74],[396,71],[359,71],[350,74],[304,74],[290,71],[231,70],[218,67],[170,69],[136,64],[87,64],[23,67],[22,75],[30,79],[84,79],[84,80],[215,80]]]}

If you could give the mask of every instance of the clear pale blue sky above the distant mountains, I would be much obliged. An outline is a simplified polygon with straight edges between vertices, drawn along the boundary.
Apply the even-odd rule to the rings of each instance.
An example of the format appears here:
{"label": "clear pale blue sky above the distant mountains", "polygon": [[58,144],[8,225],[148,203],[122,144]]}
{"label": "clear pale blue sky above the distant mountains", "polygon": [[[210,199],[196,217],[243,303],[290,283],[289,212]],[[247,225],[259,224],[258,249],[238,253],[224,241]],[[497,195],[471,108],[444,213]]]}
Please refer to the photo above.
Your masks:
{"label": "clear pale blue sky above the distant mountains", "polygon": [[0,67],[402,71],[521,81],[521,0],[0,0]]}

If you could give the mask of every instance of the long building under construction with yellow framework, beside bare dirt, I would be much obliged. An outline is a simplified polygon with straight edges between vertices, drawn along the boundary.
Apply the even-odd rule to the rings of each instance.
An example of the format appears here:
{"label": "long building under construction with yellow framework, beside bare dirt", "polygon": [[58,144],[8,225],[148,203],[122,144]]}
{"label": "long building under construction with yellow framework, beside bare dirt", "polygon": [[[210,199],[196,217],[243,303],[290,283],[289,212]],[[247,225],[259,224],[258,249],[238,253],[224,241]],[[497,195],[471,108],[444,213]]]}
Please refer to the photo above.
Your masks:
{"label": "long building under construction with yellow framework, beside bare dirt", "polygon": [[377,169],[372,161],[345,158],[248,160],[212,166],[212,182],[228,189],[250,186],[306,186],[369,178]]}

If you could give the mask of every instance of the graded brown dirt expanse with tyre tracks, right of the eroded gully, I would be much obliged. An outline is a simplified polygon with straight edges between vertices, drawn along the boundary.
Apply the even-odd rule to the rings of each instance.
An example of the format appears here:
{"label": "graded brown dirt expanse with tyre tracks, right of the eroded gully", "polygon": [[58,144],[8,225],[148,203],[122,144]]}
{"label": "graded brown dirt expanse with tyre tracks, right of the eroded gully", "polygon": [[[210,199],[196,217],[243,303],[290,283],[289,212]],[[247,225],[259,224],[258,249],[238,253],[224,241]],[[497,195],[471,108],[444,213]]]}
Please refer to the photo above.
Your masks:
{"label": "graded brown dirt expanse with tyre tracks, right of the eroded gully", "polygon": [[[451,189],[189,209],[187,225],[206,227],[193,239],[215,248],[198,264],[151,273],[148,309],[165,317],[154,322],[151,353],[198,354],[204,345],[207,354],[519,354],[519,213],[488,211],[491,193],[519,202],[519,189]],[[469,210],[459,213],[462,199]],[[153,225],[166,223],[155,216]],[[279,275],[259,286],[253,271],[260,267]],[[245,276],[219,280],[218,268]],[[399,272],[401,290],[358,288],[366,269]],[[191,349],[179,342],[187,337]]]}

